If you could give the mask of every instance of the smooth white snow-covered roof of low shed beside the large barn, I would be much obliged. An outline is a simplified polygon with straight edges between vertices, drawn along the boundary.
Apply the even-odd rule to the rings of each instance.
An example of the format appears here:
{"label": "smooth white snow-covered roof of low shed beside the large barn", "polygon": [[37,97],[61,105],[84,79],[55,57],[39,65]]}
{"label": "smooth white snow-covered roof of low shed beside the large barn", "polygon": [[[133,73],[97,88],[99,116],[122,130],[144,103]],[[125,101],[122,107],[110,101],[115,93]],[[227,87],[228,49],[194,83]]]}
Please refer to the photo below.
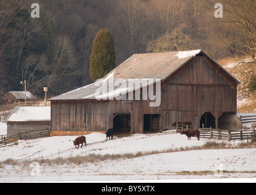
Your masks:
{"label": "smooth white snow-covered roof of low shed beside the large barn", "polygon": [[7,122],[50,121],[51,107],[15,107],[5,119]]}

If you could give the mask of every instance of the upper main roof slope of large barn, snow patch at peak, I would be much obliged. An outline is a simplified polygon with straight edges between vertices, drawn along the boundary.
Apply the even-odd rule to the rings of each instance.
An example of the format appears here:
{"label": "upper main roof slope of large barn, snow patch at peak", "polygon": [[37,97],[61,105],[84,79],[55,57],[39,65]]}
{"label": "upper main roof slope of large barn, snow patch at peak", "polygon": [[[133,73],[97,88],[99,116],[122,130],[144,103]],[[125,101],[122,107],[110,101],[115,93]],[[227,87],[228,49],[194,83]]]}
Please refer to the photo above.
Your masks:
{"label": "upper main roof slope of large barn, snow patch at peak", "polygon": [[[166,79],[201,50],[134,54],[113,71],[115,79]],[[112,71],[112,72],[113,72]],[[111,73],[110,73],[111,74]],[[107,75],[108,76],[108,75]],[[106,76],[106,77],[107,77]]]}

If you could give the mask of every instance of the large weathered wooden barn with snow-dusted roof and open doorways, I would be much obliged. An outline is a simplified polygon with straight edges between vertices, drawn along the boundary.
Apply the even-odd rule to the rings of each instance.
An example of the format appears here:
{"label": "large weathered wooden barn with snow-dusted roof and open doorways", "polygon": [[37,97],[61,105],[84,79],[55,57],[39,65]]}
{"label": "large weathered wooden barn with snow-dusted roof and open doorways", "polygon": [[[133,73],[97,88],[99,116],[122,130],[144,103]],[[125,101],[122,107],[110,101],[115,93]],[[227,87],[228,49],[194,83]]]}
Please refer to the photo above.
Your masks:
{"label": "large weathered wooden barn with snow-dusted roof and open doorways", "polygon": [[[136,80],[141,82],[139,86],[127,85]],[[108,91],[103,89],[104,82]],[[235,118],[238,83],[202,50],[134,54],[99,82],[49,99],[51,130],[114,128],[116,132],[144,133],[173,129],[172,123],[178,121],[218,128],[222,118],[225,125],[229,118]],[[148,96],[144,96],[144,89]],[[149,96],[152,89],[155,97],[160,93],[155,106],[150,106],[154,103]],[[128,94],[134,94],[133,98]]]}

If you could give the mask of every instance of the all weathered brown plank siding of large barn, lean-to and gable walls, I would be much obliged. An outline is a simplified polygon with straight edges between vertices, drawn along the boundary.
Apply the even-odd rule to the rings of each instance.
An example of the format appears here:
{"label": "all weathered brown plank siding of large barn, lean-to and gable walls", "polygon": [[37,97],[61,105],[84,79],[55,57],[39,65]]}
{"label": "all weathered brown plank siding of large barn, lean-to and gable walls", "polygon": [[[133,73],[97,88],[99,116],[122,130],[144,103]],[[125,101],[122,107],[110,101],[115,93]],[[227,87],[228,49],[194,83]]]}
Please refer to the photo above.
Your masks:
{"label": "all weathered brown plank siding of large barn, lean-to and gable walls", "polygon": [[131,132],[144,132],[144,115],[159,115],[160,129],[173,122],[191,121],[211,112],[236,113],[237,82],[206,55],[197,56],[162,82],[161,105],[150,101],[51,101],[51,130],[104,131],[113,127],[114,115],[130,115]]}

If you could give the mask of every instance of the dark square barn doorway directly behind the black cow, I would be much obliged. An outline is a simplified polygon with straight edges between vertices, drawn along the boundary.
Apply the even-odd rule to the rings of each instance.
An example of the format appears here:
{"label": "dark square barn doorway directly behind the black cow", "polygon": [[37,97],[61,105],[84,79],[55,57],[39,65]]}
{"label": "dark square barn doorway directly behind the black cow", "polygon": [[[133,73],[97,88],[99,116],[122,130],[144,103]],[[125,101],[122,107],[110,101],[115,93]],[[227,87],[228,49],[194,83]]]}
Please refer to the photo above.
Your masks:
{"label": "dark square barn doorway directly behind the black cow", "polygon": [[114,114],[113,129],[114,129],[114,132],[130,132],[131,131],[131,115],[130,114]]}

